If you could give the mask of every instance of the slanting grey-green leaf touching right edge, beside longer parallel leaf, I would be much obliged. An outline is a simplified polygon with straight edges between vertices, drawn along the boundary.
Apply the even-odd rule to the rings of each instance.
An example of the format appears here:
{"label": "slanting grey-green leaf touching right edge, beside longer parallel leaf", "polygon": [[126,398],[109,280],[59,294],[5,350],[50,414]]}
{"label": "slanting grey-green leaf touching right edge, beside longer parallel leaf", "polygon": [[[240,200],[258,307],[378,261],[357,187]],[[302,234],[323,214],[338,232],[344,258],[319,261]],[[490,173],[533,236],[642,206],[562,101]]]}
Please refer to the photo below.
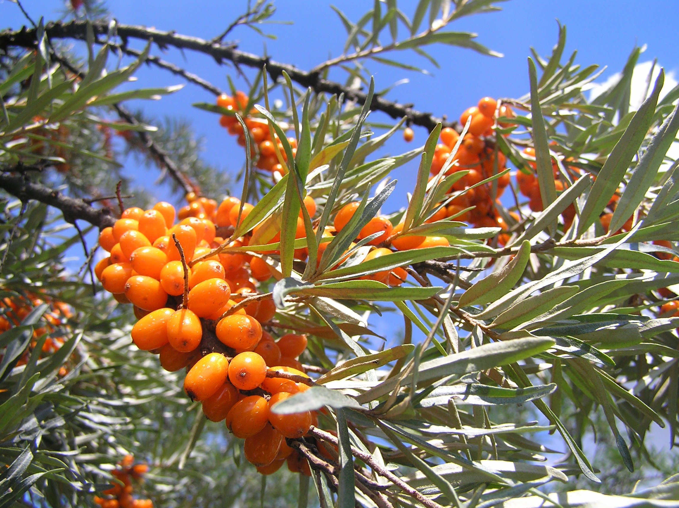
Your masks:
{"label": "slanting grey-green leaf touching right edge, beside longer parallel leaf", "polygon": [[625,192],[620,196],[615,206],[613,217],[610,219],[608,230],[617,231],[634,214],[636,207],[646,196],[648,187],[653,184],[658,168],[665,160],[667,150],[674,143],[679,130],[679,104],[676,105],[672,114],[667,117],[665,123],[650,140],[648,148],[644,151],[639,164],[637,164],[629,183],[625,185]]}

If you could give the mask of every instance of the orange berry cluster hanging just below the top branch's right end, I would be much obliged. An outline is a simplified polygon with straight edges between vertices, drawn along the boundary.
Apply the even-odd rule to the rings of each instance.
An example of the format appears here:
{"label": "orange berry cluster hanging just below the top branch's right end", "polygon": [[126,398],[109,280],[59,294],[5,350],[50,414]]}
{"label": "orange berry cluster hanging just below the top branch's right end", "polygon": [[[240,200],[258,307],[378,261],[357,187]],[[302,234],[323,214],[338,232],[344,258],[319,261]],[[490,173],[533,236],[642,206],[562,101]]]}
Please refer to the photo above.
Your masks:
{"label": "orange berry cluster hanging just below the top branch's right end", "polygon": [[[460,125],[466,125],[471,118],[469,129],[464,134],[464,139],[458,147],[458,151],[452,158],[452,166],[446,170],[446,175],[451,175],[460,170],[469,173],[456,181],[449,192],[458,192],[446,206],[439,211],[430,221],[437,221],[452,217],[460,221],[469,222],[479,228],[492,228],[500,226],[507,230],[507,224],[497,213],[494,207],[494,198],[502,196],[505,187],[509,185],[509,173],[496,179],[494,183],[486,183],[472,188],[481,181],[501,173],[506,168],[507,158],[501,151],[496,149],[490,137],[494,136],[494,125],[497,117],[513,117],[514,113],[509,105],[500,105],[494,98],[483,97],[478,105],[466,109],[460,116]],[[499,124],[507,126],[509,124]],[[438,175],[445,162],[448,160],[455,145],[460,140],[460,134],[453,128],[441,130],[441,143],[437,145],[431,164],[432,178]],[[471,210],[469,208],[473,207]],[[504,235],[506,236],[506,235]],[[503,238],[504,238],[503,236]],[[506,239],[504,239],[506,241]]]}

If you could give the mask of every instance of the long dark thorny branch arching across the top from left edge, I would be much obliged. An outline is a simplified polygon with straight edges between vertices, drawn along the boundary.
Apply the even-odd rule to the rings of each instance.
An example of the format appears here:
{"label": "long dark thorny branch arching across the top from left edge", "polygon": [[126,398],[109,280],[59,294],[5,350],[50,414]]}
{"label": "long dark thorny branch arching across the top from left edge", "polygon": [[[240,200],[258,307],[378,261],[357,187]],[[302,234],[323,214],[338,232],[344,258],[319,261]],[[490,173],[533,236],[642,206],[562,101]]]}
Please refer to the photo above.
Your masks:
{"label": "long dark thorny branch arching across the top from left edge", "polygon": [[[67,23],[50,22],[45,25],[45,33],[48,37],[55,39],[71,38],[85,40],[87,24],[88,22],[80,20]],[[109,24],[107,22],[90,22],[90,24],[95,35],[107,35],[109,33]],[[304,71],[293,65],[276,62],[268,57],[261,57],[236,50],[233,46],[215,41],[206,41],[200,37],[191,37],[189,35],[181,35],[171,31],[151,29],[146,26],[117,24],[115,29],[117,35],[123,40],[141,39],[149,41],[152,39],[160,48],[174,46],[179,49],[208,54],[215,58],[219,64],[221,64],[223,60],[229,60],[230,62],[233,62],[234,65],[244,65],[255,69],[263,69],[266,66],[267,72],[274,80],[282,76],[282,71],[285,71],[290,76],[290,79],[301,86],[313,88],[316,93],[325,92],[337,96],[344,94],[348,101],[356,101],[356,103],[359,104],[363,104],[367,101],[367,94],[339,84],[336,81],[323,79],[320,72]],[[33,48],[35,46],[35,39],[35,29],[26,29],[24,26],[20,30],[5,30],[0,32],[0,48],[7,48],[9,46]],[[98,42],[101,43],[100,41]],[[382,111],[394,119],[400,119],[405,116],[407,117],[409,124],[422,126],[427,130],[433,130],[439,122],[442,123],[443,126],[456,126],[456,122],[446,122],[439,117],[435,117],[431,113],[417,111],[409,105],[387,101],[378,95],[373,96],[370,107],[375,111]]]}

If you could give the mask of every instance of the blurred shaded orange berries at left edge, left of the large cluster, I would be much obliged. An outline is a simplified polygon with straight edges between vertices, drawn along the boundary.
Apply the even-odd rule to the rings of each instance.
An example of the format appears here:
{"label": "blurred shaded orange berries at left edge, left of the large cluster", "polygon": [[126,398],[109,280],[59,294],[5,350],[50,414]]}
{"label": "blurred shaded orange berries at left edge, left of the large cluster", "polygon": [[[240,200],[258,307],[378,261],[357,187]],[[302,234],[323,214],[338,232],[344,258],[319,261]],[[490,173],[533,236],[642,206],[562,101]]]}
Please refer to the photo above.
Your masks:
{"label": "blurred shaded orange berries at left edge, left of the large cluster", "polygon": [[[48,295],[29,294],[26,299],[19,297],[5,297],[0,300],[0,333],[7,331],[10,328],[17,327],[22,320],[33,310],[33,308],[47,303],[50,305],[50,311],[43,314],[42,319],[45,323],[42,326],[33,329],[33,340],[29,348],[24,352],[22,357],[17,361],[16,365],[25,365],[29,360],[31,352],[37,346],[37,341],[45,333],[48,333],[48,338],[42,345],[42,352],[49,355],[63,346],[66,338],[59,335],[63,331],[63,326],[66,321],[73,317],[73,310],[68,304],[54,300]],[[0,357],[1,358],[1,357]],[[67,370],[61,367],[59,371],[60,376],[65,376]]]}

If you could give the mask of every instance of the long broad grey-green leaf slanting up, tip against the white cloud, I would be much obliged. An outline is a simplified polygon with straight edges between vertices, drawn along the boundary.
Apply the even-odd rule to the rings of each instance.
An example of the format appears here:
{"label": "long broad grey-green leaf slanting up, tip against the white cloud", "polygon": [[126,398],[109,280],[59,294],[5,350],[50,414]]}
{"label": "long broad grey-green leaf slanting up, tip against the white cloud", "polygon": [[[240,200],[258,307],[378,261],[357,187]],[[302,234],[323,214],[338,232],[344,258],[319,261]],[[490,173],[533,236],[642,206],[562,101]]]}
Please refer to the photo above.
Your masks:
{"label": "long broad grey-green leaf slanting up, tip against the white cloud", "polygon": [[[578,236],[583,234],[598,219],[599,214],[608,204],[625,173],[627,173],[627,168],[629,168],[632,158],[636,156],[639,147],[646,137],[646,132],[648,132],[651,122],[653,122],[655,105],[658,101],[660,90],[663,88],[664,79],[665,75],[661,71],[658,79],[655,81],[653,93],[644,101],[639,110],[634,113],[629,126],[625,129],[621,139],[615,144],[615,147],[604,163],[604,167],[601,168],[597,175],[597,179],[594,185],[592,185],[585,202],[583,212],[580,215]],[[625,218],[626,220],[627,218]]]}

